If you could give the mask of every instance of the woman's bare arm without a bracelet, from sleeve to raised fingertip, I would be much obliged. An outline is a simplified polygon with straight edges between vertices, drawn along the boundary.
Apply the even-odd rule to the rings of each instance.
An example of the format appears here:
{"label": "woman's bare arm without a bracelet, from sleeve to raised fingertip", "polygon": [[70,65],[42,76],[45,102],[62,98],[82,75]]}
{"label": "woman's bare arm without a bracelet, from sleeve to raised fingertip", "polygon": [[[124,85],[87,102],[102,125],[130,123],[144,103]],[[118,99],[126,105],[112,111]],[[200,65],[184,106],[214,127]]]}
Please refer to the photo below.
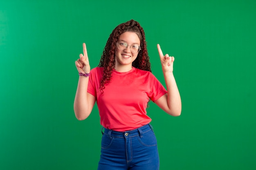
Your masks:
{"label": "woman's bare arm without a bracelet, from sleeve to raised fingertip", "polygon": [[173,75],[174,57],[169,57],[168,54],[163,55],[160,45],[157,44],[158,53],[160,56],[162,70],[168,93],[155,101],[160,108],[172,116],[180,116],[181,114],[181,99],[180,93]]}

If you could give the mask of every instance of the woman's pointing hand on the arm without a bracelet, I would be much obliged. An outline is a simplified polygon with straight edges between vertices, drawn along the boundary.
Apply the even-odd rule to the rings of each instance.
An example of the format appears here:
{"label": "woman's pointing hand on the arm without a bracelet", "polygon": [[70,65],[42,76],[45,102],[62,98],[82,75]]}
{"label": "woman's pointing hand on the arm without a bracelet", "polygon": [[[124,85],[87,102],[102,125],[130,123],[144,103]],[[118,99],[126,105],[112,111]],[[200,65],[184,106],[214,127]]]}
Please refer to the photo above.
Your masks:
{"label": "woman's pointing hand on the arm without a bracelet", "polygon": [[157,49],[160,56],[163,72],[172,73],[174,57],[169,57],[168,54],[164,55],[159,44],[157,44]]}

